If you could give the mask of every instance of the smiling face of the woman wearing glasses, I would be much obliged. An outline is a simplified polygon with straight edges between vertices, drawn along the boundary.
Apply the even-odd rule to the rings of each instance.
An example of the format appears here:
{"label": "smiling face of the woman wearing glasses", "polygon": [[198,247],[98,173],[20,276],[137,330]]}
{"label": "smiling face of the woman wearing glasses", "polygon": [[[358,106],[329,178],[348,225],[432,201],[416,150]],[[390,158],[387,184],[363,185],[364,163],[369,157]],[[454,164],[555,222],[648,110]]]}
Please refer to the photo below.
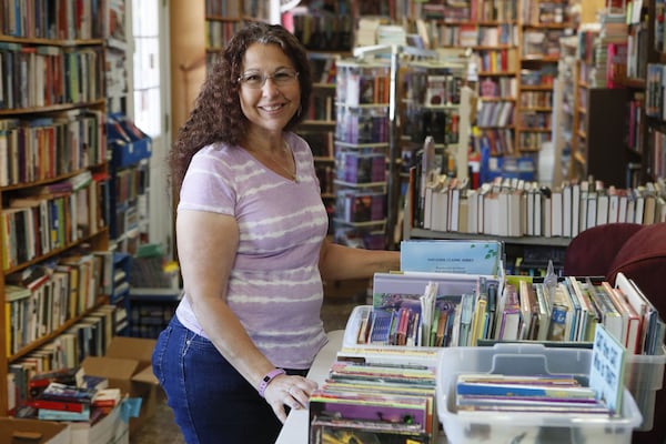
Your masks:
{"label": "smiling face of the woman wearing glasses", "polygon": [[250,130],[280,133],[301,104],[294,67],[278,44],[253,43],[241,71],[241,109]]}

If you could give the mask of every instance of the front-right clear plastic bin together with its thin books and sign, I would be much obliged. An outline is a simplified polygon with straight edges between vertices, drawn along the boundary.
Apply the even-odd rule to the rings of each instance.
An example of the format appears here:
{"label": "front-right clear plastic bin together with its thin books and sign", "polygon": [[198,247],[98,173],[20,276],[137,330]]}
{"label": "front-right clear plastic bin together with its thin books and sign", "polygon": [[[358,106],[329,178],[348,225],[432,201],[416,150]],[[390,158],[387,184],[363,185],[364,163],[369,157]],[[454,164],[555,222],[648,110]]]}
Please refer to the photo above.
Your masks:
{"label": "front-right clear plastic bin together with its thin books and sign", "polygon": [[437,413],[451,444],[630,443],[643,420],[622,384],[624,355],[605,362],[591,349],[514,343],[448,347],[438,360]]}

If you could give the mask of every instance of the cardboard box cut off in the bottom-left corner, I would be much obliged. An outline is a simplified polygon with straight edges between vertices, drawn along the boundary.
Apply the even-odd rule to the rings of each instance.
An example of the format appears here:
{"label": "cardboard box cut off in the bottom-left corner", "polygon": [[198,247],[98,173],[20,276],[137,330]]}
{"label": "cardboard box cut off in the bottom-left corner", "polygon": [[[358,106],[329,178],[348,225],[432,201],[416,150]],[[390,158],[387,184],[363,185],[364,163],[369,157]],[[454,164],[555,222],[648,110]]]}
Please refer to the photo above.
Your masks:
{"label": "cardboard box cut off in the bottom-left corner", "polygon": [[[20,433],[41,435],[36,440],[21,438]],[[69,423],[0,417],[0,443],[8,444],[70,444]]]}

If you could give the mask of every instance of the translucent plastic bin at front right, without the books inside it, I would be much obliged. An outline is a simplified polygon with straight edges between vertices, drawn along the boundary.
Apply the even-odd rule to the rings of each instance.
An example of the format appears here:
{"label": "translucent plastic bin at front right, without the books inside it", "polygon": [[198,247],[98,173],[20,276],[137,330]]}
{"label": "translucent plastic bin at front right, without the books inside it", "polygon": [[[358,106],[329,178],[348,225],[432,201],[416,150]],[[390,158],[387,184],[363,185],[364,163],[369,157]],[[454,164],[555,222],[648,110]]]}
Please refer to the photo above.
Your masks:
{"label": "translucent plastic bin at front right, without the books inside it", "polygon": [[542,344],[496,344],[492,347],[442,349],[437,364],[437,415],[450,444],[466,443],[630,443],[643,416],[625,389],[622,413],[615,417],[576,414],[455,411],[460,373],[574,374],[589,373],[592,350]]}

